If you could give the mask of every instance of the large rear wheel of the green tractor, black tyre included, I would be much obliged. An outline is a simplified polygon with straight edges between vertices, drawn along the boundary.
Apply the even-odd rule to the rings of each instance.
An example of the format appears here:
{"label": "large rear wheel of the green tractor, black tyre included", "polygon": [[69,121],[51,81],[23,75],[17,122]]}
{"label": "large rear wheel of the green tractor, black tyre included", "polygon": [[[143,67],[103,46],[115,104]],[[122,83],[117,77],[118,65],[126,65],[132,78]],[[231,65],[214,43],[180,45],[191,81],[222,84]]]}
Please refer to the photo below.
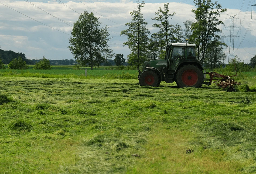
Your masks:
{"label": "large rear wheel of the green tractor, black tyre included", "polygon": [[202,70],[197,66],[185,65],[178,70],[175,81],[180,88],[199,88],[204,82],[204,76]]}

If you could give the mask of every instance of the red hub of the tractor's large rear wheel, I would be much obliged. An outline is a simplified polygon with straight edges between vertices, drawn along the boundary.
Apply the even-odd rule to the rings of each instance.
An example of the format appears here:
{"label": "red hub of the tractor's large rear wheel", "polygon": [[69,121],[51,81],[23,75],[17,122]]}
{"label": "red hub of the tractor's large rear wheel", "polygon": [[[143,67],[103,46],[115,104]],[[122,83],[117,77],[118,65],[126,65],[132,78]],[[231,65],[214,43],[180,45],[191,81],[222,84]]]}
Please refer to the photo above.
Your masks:
{"label": "red hub of the tractor's large rear wheel", "polygon": [[194,70],[188,69],[183,72],[181,80],[186,86],[193,86],[198,81],[198,75]]}

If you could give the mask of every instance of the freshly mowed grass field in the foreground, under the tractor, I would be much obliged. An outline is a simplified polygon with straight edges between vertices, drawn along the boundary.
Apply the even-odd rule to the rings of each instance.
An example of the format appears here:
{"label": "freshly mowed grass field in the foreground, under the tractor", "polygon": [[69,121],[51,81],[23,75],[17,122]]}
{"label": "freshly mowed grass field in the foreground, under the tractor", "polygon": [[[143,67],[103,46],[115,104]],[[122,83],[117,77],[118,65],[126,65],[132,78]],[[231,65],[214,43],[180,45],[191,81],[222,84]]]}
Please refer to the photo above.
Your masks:
{"label": "freshly mowed grass field in the foreground, under the tractor", "polygon": [[254,75],[225,92],[49,72],[0,72],[0,173],[256,172]]}

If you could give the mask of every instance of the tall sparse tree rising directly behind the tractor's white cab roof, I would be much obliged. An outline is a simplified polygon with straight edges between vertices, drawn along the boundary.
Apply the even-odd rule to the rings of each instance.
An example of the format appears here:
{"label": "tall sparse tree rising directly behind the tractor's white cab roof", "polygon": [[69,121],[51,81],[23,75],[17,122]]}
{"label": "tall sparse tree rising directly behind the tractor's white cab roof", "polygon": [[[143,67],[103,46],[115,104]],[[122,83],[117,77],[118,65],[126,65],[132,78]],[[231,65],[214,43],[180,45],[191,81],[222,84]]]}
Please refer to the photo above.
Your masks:
{"label": "tall sparse tree rising directly behind the tractor's white cab roof", "polygon": [[[164,44],[169,44],[170,41],[174,40],[174,36],[173,36],[174,26],[169,23],[169,20],[172,19],[170,17],[174,16],[175,13],[172,13],[172,14],[169,13],[170,12],[168,7],[169,3],[163,4],[163,5],[164,5],[164,8],[162,9],[161,7],[159,7],[158,12],[155,13],[157,17],[152,19],[160,23],[155,23],[152,26],[160,29],[160,32],[158,33],[158,35],[164,38],[164,41],[165,41]],[[165,45],[162,47],[165,47]]]}

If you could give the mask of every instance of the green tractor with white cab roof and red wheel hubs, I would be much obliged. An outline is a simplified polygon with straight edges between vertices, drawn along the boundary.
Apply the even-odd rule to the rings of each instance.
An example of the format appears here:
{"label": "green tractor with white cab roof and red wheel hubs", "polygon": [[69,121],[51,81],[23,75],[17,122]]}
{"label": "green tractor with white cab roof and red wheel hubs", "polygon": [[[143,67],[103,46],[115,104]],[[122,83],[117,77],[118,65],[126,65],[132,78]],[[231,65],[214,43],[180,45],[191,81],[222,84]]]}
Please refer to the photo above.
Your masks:
{"label": "green tractor with white cab roof and red wheel hubs", "polygon": [[178,87],[199,88],[204,83],[203,66],[195,56],[195,44],[171,43],[162,60],[144,62],[139,70],[141,86],[159,86],[161,81],[176,82]]}

